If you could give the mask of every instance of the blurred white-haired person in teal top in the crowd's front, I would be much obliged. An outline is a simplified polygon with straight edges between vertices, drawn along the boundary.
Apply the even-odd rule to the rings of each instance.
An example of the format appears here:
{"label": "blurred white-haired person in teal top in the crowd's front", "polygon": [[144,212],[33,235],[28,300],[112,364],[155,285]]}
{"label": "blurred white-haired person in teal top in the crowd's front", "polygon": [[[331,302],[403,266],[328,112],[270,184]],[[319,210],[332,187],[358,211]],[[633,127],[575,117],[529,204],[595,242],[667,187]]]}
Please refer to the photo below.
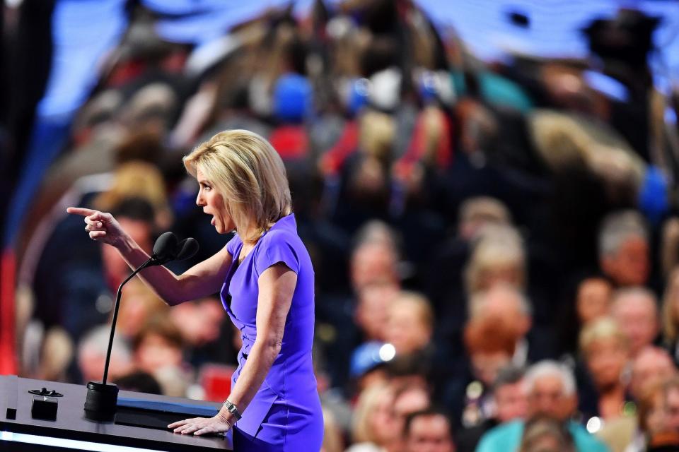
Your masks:
{"label": "blurred white-haired person in teal top in the crowd's front", "polygon": [[[524,378],[528,395],[528,420],[547,417],[564,425],[577,452],[603,452],[608,447],[570,418],[577,405],[575,377],[564,364],[541,361]],[[476,452],[518,451],[526,420],[501,424],[482,437]]]}

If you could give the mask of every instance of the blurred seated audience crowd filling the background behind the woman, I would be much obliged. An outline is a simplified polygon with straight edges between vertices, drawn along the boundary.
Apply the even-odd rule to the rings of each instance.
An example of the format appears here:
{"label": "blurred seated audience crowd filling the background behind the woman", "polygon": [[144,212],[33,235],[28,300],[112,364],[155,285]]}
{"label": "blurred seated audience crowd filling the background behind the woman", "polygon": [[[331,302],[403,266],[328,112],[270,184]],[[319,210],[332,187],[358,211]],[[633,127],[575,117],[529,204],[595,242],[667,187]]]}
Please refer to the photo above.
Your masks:
{"label": "blurred seated audience crowd filling the background behind the woman", "polygon": [[[677,450],[679,91],[654,87],[654,18],[593,20],[589,59],[484,64],[407,0],[272,9],[209,52],[129,15],[21,231],[23,376],[100,379],[129,274],[66,206],[147,251],[195,237],[180,273],[230,238],[181,157],[248,129],[314,262],[325,452]],[[221,401],[240,331],[219,296],[170,309],[132,280],[115,341],[122,388]]]}

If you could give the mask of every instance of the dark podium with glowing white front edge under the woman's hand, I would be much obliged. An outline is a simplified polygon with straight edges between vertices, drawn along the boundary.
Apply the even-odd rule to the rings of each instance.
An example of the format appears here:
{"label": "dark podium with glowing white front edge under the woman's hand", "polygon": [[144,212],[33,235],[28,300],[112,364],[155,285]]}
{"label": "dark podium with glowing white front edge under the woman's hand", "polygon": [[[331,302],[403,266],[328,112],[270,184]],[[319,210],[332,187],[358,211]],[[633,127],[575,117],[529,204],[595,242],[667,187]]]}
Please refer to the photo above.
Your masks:
{"label": "dark podium with glowing white front edge under the woman's hand", "polygon": [[[33,395],[28,391],[41,388],[64,395],[57,398],[55,420],[35,419],[31,414]],[[144,423],[162,424],[172,417],[181,420],[186,417],[199,417],[198,413],[207,416],[221,408],[218,403],[120,391],[116,419],[112,422],[95,422],[85,417],[83,406],[86,393],[85,385],[0,376],[0,450],[20,452],[233,450],[231,432],[224,436],[194,436],[175,434],[168,429],[139,427]],[[173,408],[176,408],[176,412],[173,412]],[[181,414],[185,412],[197,415]],[[152,422],[144,420],[138,422],[144,417],[149,417]]]}

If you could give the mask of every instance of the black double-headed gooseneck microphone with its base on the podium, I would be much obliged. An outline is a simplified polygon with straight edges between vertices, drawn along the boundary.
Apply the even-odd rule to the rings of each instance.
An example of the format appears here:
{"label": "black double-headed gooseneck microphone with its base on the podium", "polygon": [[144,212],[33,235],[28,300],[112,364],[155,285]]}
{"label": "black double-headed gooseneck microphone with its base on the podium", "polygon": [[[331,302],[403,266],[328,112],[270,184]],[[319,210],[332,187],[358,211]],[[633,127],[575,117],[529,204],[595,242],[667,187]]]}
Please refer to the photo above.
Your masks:
{"label": "black double-headed gooseneck microphone with its base on the podium", "polygon": [[115,333],[115,323],[118,319],[118,308],[120,307],[120,297],[122,296],[122,286],[127,284],[127,281],[134,278],[144,268],[151,266],[160,266],[163,263],[170,261],[183,261],[193,257],[198,252],[198,242],[196,239],[189,237],[183,239],[181,242],[177,236],[172,232],[165,232],[158,237],[156,243],[153,244],[153,254],[151,257],[142,263],[136,270],[132,272],[125,280],[118,286],[117,294],[115,295],[115,307],[113,309],[113,321],[111,324],[111,335],[108,340],[108,351],[106,352],[106,362],[104,364],[104,375],[101,383],[98,381],[90,381],[87,383],[87,398],[85,400],[85,416],[88,419],[96,421],[112,420],[115,415],[116,403],[118,400],[118,387],[112,383],[106,383],[108,378],[108,365],[111,361],[111,349],[113,347],[113,334]]}

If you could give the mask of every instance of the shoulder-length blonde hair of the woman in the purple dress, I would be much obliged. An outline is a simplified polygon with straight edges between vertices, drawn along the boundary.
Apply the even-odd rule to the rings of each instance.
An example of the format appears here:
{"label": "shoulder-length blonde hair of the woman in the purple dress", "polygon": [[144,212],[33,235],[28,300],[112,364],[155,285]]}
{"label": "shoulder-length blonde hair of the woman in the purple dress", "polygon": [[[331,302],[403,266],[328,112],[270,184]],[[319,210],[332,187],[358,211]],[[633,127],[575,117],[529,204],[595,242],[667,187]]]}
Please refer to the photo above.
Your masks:
{"label": "shoulder-length blonde hair of the woman in the purple dress", "polygon": [[183,160],[193,177],[200,169],[224,196],[226,213],[244,242],[255,242],[272,223],[292,212],[283,160],[257,133],[219,132]]}

